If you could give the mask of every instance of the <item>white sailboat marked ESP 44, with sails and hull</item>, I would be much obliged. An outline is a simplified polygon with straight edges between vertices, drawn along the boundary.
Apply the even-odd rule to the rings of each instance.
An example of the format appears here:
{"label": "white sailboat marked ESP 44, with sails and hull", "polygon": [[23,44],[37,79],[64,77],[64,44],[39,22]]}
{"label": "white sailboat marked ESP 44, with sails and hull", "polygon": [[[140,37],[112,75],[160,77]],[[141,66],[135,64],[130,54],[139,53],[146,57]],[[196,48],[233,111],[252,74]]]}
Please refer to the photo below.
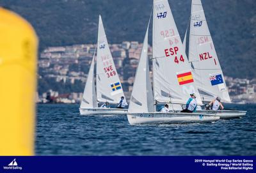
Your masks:
{"label": "white sailboat marked ESP 44, with sails and hull", "polygon": [[[198,93],[198,91],[193,86],[191,68],[188,59],[186,59],[168,0],[155,0],[153,11],[154,96],[148,68],[147,27],[127,113],[129,123],[162,124],[218,121],[220,116],[215,114],[156,112],[156,103],[185,104],[187,100],[185,97],[192,92]],[[200,98],[198,102],[201,102]]]}

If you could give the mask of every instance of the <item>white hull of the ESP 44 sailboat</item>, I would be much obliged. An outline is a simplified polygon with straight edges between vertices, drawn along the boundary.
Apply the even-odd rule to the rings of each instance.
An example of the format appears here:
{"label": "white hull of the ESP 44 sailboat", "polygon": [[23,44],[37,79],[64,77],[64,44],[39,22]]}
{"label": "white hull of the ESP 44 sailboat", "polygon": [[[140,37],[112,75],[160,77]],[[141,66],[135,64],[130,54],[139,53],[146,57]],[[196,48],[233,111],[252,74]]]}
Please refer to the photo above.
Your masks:
{"label": "white hull of the ESP 44 sailboat", "polygon": [[214,122],[220,119],[216,114],[195,114],[195,113],[127,113],[130,124],[173,124],[173,123],[205,123]]}

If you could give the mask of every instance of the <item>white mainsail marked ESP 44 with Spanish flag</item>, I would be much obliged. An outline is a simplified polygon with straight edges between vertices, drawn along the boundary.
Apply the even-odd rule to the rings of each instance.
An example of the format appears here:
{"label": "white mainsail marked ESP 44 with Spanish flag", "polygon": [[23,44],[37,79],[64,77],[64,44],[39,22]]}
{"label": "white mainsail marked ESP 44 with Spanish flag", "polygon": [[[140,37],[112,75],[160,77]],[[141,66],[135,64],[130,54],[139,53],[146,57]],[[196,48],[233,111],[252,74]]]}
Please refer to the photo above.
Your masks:
{"label": "white mainsail marked ESP 44 with Spanish flag", "polygon": [[155,0],[153,15],[155,100],[184,104],[195,93],[202,104],[168,0]]}

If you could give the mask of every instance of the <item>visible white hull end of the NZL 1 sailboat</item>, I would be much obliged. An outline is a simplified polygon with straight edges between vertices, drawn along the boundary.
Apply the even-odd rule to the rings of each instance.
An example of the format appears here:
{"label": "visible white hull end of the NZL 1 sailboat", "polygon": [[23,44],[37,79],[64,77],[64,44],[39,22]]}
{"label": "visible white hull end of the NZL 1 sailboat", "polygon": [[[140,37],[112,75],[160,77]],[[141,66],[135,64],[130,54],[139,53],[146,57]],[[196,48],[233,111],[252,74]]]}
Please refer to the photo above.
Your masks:
{"label": "visible white hull end of the NZL 1 sailboat", "polygon": [[246,111],[239,110],[196,110],[197,113],[202,114],[217,114],[220,119],[231,119],[245,116]]}

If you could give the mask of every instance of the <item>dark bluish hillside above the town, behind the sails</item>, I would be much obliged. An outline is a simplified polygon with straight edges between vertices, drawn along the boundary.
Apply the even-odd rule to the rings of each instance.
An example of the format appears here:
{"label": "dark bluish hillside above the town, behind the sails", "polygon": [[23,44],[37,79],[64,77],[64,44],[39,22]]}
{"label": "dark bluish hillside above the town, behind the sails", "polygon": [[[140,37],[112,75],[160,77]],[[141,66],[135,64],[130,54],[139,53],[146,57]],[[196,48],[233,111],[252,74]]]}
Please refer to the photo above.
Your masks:
{"label": "dark bluish hillside above the town, behind the sails", "polygon": [[[178,3],[177,3],[178,2]],[[169,0],[180,36],[191,1]],[[225,75],[256,77],[256,5],[253,0],[203,0],[205,16]],[[102,15],[109,43],[143,41],[152,8],[148,0],[1,0],[35,27],[40,50],[47,46],[95,43]],[[150,33],[151,37],[151,33]]]}

